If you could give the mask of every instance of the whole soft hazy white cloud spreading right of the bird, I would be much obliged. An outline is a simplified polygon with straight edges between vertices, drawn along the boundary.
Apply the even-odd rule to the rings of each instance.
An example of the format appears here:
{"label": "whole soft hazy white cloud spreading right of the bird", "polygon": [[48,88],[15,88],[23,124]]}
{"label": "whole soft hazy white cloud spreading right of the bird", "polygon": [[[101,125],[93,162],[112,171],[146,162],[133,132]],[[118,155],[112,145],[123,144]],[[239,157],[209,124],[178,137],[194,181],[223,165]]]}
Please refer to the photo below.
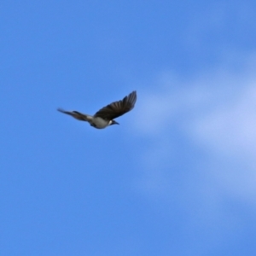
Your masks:
{"label": "whole soft hazy white cloud spreading right of the bird", "polygon": [[[137,186],[143,193],[192,197],[206,207],[206,198],[220,203],[226,196],[255,205],[256,75],[255,60],[249,60],[239,72],[221,67],[190,81],[164,74],[151,90],[141,91],[134,130],[153,142],[141,155]],[[194,155],[197,166],[185,166],[183,176],[175,170],[183,164],[175,159],[175,136],[204,154]]]}

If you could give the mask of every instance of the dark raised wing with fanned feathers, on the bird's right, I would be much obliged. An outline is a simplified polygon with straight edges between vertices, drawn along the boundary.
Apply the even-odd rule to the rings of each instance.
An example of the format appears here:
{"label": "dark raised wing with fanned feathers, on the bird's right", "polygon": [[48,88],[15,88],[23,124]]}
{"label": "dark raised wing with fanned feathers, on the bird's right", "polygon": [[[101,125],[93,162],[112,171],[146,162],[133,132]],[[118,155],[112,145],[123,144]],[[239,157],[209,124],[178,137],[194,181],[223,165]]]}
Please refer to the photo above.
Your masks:
{"label": "dark raised wing with fanned feathers, on the bird's right", "polygon": [[129,112],[134,108],[137,100],[136,90],[132,91],[128,96],[125,96],[123,100],[119,102],[112,102],[108,106],[101,108],[94,117],[101,117],[102,119],[112,120],[120,115]]}

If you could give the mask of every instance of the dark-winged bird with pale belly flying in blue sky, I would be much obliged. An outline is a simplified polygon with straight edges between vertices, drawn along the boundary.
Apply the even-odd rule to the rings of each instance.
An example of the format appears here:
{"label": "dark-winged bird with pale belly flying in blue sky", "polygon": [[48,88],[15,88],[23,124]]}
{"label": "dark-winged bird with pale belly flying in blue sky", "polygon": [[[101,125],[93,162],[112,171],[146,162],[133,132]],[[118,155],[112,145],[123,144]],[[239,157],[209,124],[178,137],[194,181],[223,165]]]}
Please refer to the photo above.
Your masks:
{"label": "dark-winged bird with pale belly flying in blue sky", "polygon": [[106,107],[101,108],[94,115],[80,113],[78,111],[66,111],[62,108],[57,108],[61,113],[67,113],[73,116],[74,119],[80,121],[87,121],[91,126],[96,129],[104,129],[109,125],[119,125],[119,123],[114,120],[119,116],[131,111],[137,101],[137,91],[132,91],[128,96],[125,96],[123,100],[112,102]]}

